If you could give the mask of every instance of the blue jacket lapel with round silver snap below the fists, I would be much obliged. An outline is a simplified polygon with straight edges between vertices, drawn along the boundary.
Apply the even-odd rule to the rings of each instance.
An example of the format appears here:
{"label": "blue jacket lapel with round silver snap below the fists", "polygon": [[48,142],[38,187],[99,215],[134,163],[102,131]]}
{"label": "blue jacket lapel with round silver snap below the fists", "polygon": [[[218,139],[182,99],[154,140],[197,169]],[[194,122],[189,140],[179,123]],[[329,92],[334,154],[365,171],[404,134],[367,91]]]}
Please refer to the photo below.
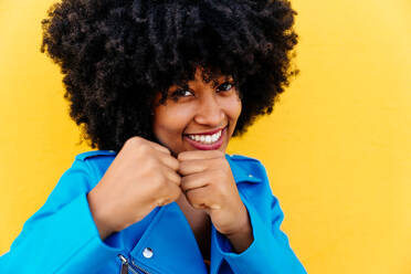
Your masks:
{"label": "blue jacket lapel with round silver snap below the fists", "polygon": [[154,273],[208,273],[190,224],[176,202],[161,207],[130,255]]}

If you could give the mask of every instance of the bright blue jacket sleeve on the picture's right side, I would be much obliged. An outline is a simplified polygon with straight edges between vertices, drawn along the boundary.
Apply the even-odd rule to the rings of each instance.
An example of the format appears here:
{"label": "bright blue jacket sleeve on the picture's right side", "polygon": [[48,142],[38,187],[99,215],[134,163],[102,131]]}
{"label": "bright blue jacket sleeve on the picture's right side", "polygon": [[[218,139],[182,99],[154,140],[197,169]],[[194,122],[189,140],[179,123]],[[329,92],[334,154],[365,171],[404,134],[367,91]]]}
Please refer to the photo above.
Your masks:
{"label": "bright blue jacket sleeve on the picture's right side", "polygon": [[254,241],[238,254],[232,251],[230,241],[213,230],[217,250],[235,274],[304,274],[304,266],[291,249],[286,234],[280,229],[284,213],[278,200],[272,194],[265,169],[260,166],[264,178],[261,183],[238,185],[249,211]]}

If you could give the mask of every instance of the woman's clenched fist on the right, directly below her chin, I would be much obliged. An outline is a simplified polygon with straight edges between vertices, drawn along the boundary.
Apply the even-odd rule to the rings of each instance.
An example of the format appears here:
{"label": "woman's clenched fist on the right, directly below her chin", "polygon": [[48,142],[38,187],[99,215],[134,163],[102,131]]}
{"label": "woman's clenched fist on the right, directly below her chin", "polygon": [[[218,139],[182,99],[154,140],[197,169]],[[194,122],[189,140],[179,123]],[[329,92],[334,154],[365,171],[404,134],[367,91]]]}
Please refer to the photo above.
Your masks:
{"label": "woman's clenched fist on the right, directly below her chin", "polygon": [[178,155],[181,189],[196,209],[204,210],[215,229],[233,235],[250,229],[233,175],[220,150],[193,150]]}

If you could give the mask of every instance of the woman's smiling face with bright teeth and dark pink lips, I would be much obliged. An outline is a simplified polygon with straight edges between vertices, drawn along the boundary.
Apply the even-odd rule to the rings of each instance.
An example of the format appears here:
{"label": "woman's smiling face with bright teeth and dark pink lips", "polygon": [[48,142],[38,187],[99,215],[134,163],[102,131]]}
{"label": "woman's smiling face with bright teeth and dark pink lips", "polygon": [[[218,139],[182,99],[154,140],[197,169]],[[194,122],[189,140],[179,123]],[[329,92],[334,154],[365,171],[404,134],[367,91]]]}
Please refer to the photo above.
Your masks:
{"label": "woman's smiling face with bright teeth and dark pink lips", "polygon": [[188,86],[171,86],[165,104],[156,99],[154,134],[173,155],[188,150],[225,151],[241,113],[241,101],[230,76],[211,81],[196,71]]}

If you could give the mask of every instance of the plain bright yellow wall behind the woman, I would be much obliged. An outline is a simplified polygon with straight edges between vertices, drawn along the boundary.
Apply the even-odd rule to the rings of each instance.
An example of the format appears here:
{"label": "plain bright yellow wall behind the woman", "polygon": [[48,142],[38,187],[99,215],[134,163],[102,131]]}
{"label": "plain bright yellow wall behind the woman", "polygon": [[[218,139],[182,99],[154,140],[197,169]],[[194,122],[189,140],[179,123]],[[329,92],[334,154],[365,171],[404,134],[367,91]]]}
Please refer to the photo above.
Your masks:
{"label": "plain bright yellow wall behind the woman", "polygon": [[[52,0],[0,1],[0,254],[74,156]],[[411,273],[411,2],[296,0],[301,75],[229,152],[259,158],[309,273]]]}

